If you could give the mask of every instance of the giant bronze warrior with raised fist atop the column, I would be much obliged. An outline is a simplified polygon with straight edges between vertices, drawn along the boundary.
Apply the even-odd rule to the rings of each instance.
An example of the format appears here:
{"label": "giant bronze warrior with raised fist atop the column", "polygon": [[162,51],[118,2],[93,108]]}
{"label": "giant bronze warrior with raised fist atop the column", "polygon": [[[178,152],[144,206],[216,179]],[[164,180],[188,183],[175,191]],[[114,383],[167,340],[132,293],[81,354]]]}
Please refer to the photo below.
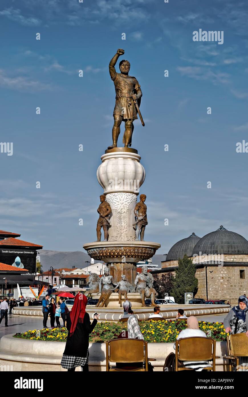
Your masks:
{"label": "giant bronze warrior with raised fist atop the column", "polygon": [[[117,147],[118,136],[120,134],[120,124],[122,121],[125,122],[125,132],[123,136],[123,143],[125,147],[131,146],[132,133],[134,131],[134,119],[137,119],[137,113],[135,106],[137,103],[137,111],[141,102],[142,92],[140,85],[135,77],[129,76],[128,72],[130,69],[130,63],[126,60],[120,61],[119,68],[120,73],[117,73],[114,66],[120,55],[124,54],[124,50],[119,48],[111,59],[109,64],[109,73],[111,79],[114,81],[115,87],[115,107],[114,107],[114,126],[112,129],[113,145],[109,146],[108,149]],[[142,116],[141,123],[143,121]],[[142,125],[145,125],[144,122]]]}

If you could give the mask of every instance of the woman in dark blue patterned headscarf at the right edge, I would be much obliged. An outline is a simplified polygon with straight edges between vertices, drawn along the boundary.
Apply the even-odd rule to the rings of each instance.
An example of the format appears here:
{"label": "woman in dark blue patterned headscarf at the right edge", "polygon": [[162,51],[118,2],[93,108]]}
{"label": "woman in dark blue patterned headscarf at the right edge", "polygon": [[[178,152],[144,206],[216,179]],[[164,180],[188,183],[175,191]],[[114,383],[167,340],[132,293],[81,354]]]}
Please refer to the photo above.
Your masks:
{"label": "woman in dark blue patterned headscarf at the right edge", "polygon": [[224,328],[229,333],[242,333],[245,332],[248,337],[248,299],[241,295],[238,298],[238,306],[233,306],[232,310],[227,314],[224,319]]}

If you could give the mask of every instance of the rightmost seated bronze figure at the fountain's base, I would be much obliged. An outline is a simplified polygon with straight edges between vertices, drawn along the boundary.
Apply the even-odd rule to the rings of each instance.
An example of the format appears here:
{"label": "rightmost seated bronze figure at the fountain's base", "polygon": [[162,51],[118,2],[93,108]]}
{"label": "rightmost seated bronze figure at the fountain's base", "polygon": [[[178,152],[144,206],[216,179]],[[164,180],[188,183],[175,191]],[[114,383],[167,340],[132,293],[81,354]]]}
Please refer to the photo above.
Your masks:
{"label": "rightmost seated bronze figure at the fountain's base", "polygon": [[153,288],[153,276],[148,273],[147,266],[142,268],[142,272],[137,274],[134,281],[135,289],[141,295],[142,307],[145,307],[145,297],[151,297],[151,306],[157,306],[155,303],[155,296],[158,295],[156,289]]}

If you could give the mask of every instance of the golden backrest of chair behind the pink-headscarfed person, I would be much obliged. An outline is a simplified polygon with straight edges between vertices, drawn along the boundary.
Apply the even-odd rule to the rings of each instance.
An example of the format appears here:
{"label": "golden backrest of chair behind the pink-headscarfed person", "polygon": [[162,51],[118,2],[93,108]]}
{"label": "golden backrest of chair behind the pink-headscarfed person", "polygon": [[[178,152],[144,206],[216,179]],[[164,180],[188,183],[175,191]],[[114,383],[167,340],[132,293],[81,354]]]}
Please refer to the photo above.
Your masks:
{"label": "golden backrest of chair behind the pink-headscarfed person", "polygon": [[178,347],[178,360],[181,361],[212,360],[215,354],[215,340],[207,337],[181,338]]}

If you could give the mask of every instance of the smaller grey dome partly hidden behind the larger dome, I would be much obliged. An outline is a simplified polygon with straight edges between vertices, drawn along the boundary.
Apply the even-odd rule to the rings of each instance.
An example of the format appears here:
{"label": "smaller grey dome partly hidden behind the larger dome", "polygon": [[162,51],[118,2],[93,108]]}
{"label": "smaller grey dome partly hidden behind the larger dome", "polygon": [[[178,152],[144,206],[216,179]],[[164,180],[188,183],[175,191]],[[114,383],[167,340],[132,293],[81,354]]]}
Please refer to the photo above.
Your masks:
{"label": "smaller grey dome partly hidden behind the larger dome", "polygon": [[168,252],[166,256],[166,262],[168,260],[178,260],[179,258],[183,258],[185,254],[187,256],[192,256],[193,248],[200,239],[201,238],[196,236],[196,234],[193,232],[186,239],[177,241],[177,243],[174,244]]}

